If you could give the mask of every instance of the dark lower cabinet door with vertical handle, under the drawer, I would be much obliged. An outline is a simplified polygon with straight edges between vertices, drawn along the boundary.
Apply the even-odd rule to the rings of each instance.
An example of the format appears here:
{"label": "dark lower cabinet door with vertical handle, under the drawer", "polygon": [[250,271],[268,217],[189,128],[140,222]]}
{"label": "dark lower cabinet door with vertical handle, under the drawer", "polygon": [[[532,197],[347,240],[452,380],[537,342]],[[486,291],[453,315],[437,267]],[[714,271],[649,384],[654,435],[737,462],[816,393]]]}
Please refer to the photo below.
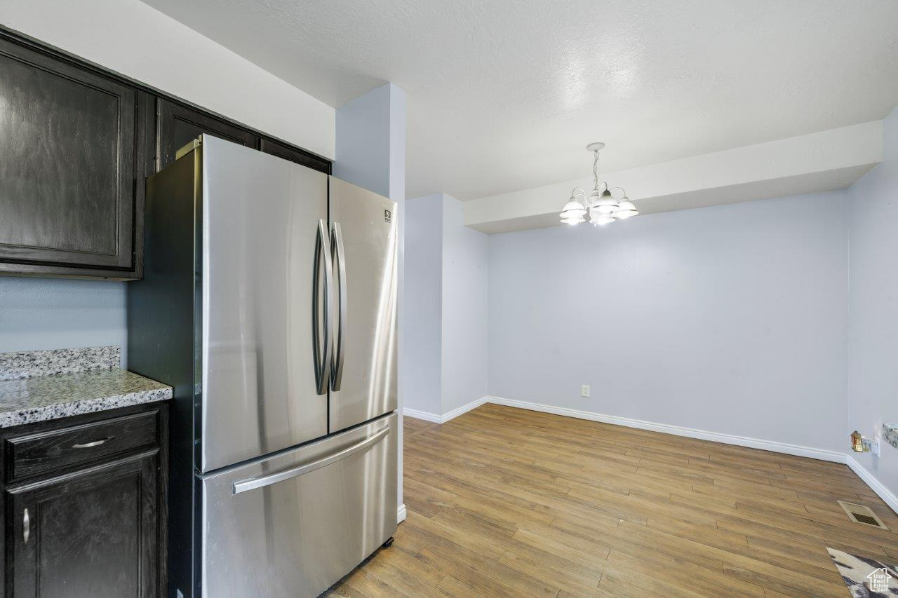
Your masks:
{"label": "dark lower cabinet door with vertical handle, under the drawer", "polygon": [[157,460],[154,450],[8,489],[13,595],[159,594]]}

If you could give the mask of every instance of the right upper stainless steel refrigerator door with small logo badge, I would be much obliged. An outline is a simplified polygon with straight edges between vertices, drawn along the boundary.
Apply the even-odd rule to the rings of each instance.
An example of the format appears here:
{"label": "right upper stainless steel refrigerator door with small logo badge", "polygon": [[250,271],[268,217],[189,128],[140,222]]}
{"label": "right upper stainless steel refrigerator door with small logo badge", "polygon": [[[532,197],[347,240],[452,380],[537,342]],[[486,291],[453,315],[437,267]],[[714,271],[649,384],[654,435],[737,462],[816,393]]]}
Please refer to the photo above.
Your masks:
{"label": "right upper stainless steel refrigerator door with small logo badge", "polygon": [[396,202],[330,177],[330,431],[396,409]]}

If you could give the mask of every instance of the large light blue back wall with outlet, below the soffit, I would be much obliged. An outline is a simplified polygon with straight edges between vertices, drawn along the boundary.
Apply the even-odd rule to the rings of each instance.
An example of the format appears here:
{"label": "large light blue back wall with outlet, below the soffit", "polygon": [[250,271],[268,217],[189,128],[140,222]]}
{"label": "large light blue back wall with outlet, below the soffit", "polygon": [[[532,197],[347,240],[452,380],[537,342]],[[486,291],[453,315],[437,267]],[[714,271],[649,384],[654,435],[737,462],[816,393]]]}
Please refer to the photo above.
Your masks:
{"label": "large light blue back wall with outlet, below the soffit", "polygon": [[844,453],[848,204],[491,235],[489,394]]}

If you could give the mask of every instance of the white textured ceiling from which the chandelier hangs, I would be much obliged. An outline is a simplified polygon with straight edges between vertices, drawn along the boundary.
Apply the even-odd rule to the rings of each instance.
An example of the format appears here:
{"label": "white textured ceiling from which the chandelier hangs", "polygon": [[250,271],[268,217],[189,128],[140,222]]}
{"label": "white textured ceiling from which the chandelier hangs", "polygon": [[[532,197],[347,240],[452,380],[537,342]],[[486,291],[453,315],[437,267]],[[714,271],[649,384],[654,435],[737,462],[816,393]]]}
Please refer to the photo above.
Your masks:
{"label": "white textured ceiling from which the chandelier hangs", "polygon": [[409,198],[579,178],[591,141],[621,171],[898,103],[895,0],[145,2],[334,107],[398,84]]}

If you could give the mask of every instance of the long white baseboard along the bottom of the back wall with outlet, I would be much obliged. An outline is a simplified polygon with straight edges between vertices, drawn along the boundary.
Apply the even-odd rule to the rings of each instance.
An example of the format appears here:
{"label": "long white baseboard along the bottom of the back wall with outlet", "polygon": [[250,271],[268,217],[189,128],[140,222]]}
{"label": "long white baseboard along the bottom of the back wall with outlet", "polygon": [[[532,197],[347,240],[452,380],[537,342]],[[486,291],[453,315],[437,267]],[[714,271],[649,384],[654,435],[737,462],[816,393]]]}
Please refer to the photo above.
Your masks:
{"label": "long white baseboard along the bottom of the back wall with outlet", "polygon": [[836,451],[828,451],[825,449],[813,448],[810,446],[802,446],[800,444],[779,443],[772,440],[761,440],[760,438],[750,438],[747,436],[737,436],[731,434],[720,434],[718,432],[709,432],[708,430],[700,430],[694,427],[670,426],[668,424],[657,424],[656,422],[644,421],[642,419],[621,418],[618,416],[605,415],[603,413],[595,413],[593,411],[582,411],[579,409],[568,409],[565,407],[555,407],[553,405],[543,405],[541,403],[531,403],[524,400],[503,399],[502,397],[485,397],[484,402],[495,403],[497,405],[506,405],[507,407],[517,407],[519,409],[530,409],[532,411],[542,411],[544,413],[554,413],[555,415],[567,416],[568,418],[589,419],[591,421],[601,421],[605,424],[614,424],[616,426],[635,427],[640,430],[651,430],[652,432],[662,432],[664,434],[673,434],[678,436],[687,436],[689,438],[699,438],[700,440],[710,440],[716,443],[735,444],[736,446],[747,446],[749,448],[762,449],[764,451],[772,451],[773,453],[794,454],[799,457],[810,457],[812,459],[820,459],[821,461],[831,461],[836,463],[845,462],[845,453]]}

